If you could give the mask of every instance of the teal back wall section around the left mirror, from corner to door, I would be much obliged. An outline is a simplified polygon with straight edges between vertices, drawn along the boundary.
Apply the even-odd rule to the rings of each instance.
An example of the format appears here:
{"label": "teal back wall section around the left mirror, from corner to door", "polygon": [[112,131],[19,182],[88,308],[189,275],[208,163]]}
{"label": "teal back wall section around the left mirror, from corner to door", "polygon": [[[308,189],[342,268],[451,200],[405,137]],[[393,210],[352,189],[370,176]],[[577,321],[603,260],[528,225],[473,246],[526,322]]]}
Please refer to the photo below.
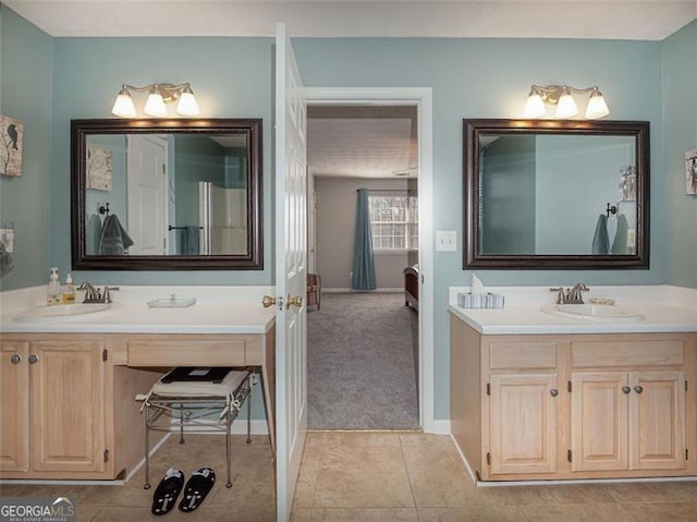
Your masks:
{"label": "teal back wall section around the left mirror, from corner to door", "polygon": [[[270,38],[54,38],[51,233],[65,241],[51,248],[51,263],[64,274],[71,264],[70,120],[112,118],[121,84],[191,82],[201,114],[261,118],[264,130],[265,268],[260,271],[77,271],[97,284],[271,284],[273,216],[271,107],[273,40]],[[135,95],[137,96],[137,95]],[[137,107],[145,96],[135,97]],[[184,216],[176,216],[178,220]],[[40,283],[35,281],[34,283]]]}

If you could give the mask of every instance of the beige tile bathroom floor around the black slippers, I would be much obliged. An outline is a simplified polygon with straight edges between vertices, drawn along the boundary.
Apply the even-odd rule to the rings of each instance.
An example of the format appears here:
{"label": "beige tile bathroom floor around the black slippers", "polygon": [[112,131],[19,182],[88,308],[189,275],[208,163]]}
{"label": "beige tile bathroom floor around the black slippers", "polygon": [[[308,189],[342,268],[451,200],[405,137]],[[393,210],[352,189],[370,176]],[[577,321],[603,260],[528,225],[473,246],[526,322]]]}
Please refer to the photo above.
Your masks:
{"label": "beige tile bathroom floor around the black slippers", "polygon": [[[218,481],[198,511],[150,514],[143,475],[126,486],[0,486],[2,496],[71,496],[78,521],[276,520],[268,438],[233,437],[232,489],[224,438],[175,437],[152,460],[154,487],[167,468],[188,476],[211,465]],[[156,478],[157,477],[157,478]],[[697,482],[475,487],[450,437],[414,432],[310,432],[292,522],[662,522],[697,521]]]}

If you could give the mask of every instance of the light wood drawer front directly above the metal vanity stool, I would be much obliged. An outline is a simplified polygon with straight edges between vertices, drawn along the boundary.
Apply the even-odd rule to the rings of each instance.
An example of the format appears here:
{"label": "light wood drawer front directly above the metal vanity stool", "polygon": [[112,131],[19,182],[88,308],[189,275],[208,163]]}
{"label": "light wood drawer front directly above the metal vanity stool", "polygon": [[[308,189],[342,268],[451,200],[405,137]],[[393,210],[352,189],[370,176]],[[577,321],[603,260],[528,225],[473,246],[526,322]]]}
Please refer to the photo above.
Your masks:
{"label": "light wood drawer front directly above the metal vanity stool", "polygon": [[129,341],[129,366],[245,366],[240,340]]}

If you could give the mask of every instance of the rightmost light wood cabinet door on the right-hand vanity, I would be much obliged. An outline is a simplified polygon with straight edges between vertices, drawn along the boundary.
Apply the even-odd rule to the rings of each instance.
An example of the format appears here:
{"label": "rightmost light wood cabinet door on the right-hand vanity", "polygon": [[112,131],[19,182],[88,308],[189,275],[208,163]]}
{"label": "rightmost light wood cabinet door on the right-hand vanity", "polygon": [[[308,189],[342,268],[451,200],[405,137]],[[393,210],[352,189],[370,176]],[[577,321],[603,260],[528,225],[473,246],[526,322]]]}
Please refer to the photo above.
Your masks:
{"label": "rightmost light wood cabinet door on the right-hand vanity", "polygon": [[629,387],[631,469],[685,469],[685,374],[633,372]]}

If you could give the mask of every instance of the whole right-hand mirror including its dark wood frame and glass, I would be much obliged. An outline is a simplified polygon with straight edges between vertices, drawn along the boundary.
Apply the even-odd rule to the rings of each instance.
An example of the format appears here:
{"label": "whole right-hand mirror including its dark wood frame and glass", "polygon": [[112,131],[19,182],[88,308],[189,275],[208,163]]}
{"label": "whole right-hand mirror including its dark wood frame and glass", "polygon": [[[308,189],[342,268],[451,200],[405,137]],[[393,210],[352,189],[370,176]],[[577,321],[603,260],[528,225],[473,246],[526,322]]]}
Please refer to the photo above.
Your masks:
{"label": "whole right-hand mirror including its dark wood frame and glass", "polygon": [[649,267],[649,122],[464,120],[464,268]]}

